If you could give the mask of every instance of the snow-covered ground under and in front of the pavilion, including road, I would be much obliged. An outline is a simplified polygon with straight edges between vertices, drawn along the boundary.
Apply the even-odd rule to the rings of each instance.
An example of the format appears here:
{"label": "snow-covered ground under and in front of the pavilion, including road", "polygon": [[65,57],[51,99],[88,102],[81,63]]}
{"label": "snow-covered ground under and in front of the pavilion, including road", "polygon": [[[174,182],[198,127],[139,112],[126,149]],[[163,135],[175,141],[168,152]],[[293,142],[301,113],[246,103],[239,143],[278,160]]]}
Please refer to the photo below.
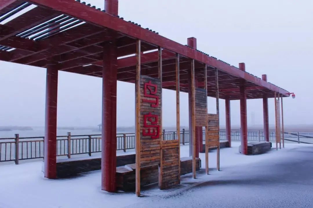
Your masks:
{"label": "snow-covered ground under and in front of the pavilion, including road", "polygon": [[[221,171],[214,169],[216,151],[211,151],[210,175],[182,177],[192,187],[150,189],[140,198],[101,191],[100,171],[49,180],[38,161],[2,165],[0,208],[313,207],[313,145],[285,144],[285,149],[254,156],[241,155],[239,143],[232,145],[221,149]],[[188,156],[188,148],[181,146],[181,157]],[[204,167],[204,154],[200,157]]]}

